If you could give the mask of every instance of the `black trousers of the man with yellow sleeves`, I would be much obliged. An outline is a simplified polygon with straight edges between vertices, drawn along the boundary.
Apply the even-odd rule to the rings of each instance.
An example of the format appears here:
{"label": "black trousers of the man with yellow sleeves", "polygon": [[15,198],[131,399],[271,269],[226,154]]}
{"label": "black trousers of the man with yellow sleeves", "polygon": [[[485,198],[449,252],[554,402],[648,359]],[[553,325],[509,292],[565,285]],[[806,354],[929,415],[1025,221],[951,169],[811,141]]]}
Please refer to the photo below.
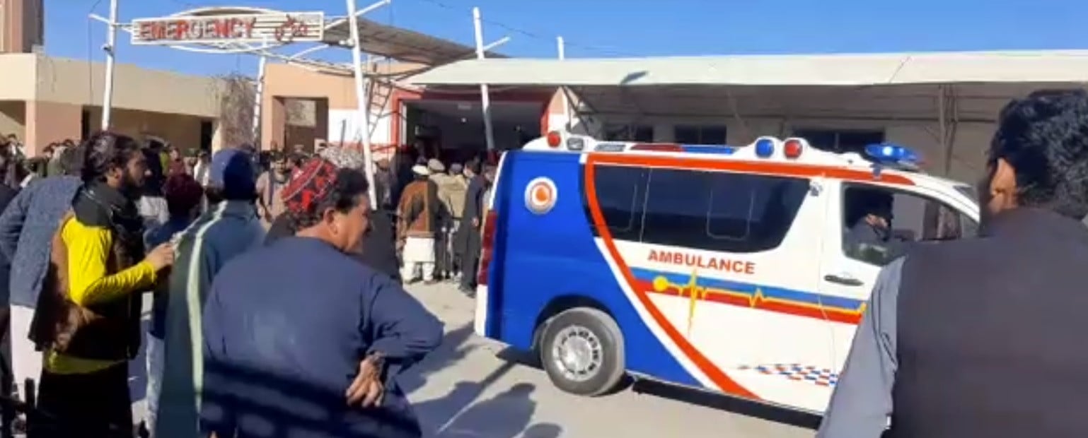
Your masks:
{"label": "black trousers of the man with yellow sleeves", "polygon": [[131,438],[127,363],[88,374],[42,371],[35,411],[27,438]]}

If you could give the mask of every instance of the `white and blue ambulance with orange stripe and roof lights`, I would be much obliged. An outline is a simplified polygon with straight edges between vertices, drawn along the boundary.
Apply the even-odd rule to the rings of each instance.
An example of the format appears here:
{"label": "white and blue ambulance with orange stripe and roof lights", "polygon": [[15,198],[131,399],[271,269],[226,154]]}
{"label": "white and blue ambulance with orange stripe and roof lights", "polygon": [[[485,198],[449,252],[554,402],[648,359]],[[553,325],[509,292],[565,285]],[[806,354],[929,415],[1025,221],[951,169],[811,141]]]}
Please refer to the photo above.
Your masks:
{"label": "white and blue ambulance with orange stripe and roof lights", "polygon": [[978,224],[972,186],[901,146],[864,152],[548,133],[499,161],[474,329],[577,395],[629,374],[821,413],[895,255],[851,230],[883,212],[903,248]]}

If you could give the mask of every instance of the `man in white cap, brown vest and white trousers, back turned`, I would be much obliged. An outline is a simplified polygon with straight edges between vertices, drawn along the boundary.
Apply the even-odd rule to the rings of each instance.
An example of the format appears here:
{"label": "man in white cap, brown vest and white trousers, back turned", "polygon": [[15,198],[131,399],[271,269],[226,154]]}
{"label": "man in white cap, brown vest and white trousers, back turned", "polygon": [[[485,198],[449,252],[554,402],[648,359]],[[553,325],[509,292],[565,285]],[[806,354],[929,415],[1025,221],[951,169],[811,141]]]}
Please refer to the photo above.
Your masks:
{"label": "man in white cap, brown vest and white trousers, back turned", "polygon": [[431,171],[424,165],[411,168],[415,180],[405,187],[397,208],[397,233],[403,245],[404,266],[400,278],[411,283],[422,277],[434,283],[434,237],[442,224],[443,207],[438,201],[437,186],[429,179]]}

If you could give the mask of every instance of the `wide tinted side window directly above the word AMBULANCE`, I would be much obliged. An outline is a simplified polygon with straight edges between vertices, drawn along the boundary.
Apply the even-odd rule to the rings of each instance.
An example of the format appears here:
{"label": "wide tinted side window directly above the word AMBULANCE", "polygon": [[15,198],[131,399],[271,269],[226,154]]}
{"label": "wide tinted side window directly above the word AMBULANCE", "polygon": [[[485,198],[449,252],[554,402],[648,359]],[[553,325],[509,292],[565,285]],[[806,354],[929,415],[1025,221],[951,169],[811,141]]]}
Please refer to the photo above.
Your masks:
{"label": "wide tinted side window directly above the word AMBULANCE", "polygon": [[774,249],[807,191],[808,182],[799,178],[654,168],[641,241],[725,252]]}

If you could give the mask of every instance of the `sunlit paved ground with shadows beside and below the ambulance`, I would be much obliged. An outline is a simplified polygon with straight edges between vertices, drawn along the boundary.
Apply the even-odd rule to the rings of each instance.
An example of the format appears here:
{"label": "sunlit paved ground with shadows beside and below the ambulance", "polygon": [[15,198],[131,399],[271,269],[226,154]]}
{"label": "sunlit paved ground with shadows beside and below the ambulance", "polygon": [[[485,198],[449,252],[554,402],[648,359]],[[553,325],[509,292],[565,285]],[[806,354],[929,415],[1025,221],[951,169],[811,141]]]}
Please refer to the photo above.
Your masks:
{"label": "sunlit paved ground with shadows beside and below the ambulance", "polygon": [[[406,390],[434,437],[812,437],[815,420],[664,385],[636,384],[596,399],[554,388],[544,372],[472,335],[472,301],[450,286],[411,287],[446,323],[446,341]],[[762,418],[761,418],[762,417]]]}

